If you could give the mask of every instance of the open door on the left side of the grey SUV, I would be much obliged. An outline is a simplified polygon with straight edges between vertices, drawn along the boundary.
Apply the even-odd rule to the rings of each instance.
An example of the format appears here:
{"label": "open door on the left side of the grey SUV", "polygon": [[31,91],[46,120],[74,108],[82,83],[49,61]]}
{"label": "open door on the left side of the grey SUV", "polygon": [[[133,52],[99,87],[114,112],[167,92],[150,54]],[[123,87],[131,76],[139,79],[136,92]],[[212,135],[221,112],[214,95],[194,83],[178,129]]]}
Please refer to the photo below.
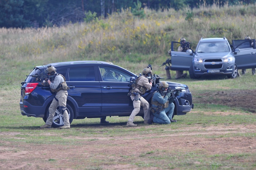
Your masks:
{"label": "open door on the left side of the grey SUV", "polygon": [[171,70],[189,70],[194,55],[174,51],[174,48],[178,48],[179,45],[179,42],[171,42]]}

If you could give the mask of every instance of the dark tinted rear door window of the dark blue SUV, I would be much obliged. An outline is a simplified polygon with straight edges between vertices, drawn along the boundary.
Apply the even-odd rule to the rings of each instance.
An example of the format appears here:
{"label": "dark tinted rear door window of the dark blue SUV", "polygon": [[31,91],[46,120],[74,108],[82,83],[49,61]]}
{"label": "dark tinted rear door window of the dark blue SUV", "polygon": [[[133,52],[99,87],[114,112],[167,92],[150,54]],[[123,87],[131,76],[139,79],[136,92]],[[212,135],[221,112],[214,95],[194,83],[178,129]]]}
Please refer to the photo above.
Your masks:
{"label": "dark tinted rear door window of the dark blue SUV", "polygon": [[94,67],[74,67],[69,69],[69,81],[95,81]]}

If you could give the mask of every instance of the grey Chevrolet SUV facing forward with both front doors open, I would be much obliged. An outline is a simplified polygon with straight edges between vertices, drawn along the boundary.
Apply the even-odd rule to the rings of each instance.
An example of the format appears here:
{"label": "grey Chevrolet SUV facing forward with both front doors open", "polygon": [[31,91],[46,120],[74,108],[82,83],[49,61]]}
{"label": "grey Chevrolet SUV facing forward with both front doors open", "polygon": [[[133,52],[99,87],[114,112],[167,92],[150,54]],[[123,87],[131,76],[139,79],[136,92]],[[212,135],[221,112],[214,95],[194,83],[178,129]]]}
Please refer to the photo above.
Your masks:
{"label": "grey Chevrolet SUV facing forward with both front doors open", "polygon": [[255,39],[233,40],[201,38],[195,52],[174,51],[178,42],[171,43],[171,70],[188,70],[190,78],[207,75],[227,75],[236,78],[238,69],[256,67]]}

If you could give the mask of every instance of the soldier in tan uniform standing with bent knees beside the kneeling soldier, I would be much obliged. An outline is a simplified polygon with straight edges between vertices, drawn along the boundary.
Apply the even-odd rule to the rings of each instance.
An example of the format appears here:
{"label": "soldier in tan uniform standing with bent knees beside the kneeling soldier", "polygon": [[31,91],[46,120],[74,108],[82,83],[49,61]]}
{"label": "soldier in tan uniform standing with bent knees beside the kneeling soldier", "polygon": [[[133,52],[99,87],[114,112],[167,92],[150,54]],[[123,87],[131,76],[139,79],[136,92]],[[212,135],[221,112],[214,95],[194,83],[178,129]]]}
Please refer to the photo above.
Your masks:
{"label": "soldier in tan uniform standing with bent knees beside the kneeling soldier", "polygon": [[134,110],[131,112],[131,115],[126,124],[127,127],[135,127],[137,124],[133,123],[135,116],[139,113],[141,106],[143,106],[144,111],[144,124],[148,124],[150,119],[149,115],[149,102],[145,100],[142,95],[145,94],[146,90],[151,90],[153,79],[147,77],[152,75],[150,67],[144,68],[142,75],[139,76],[136,80],[136,83],[133,83],[132,90],[129,92],[131,100],[133,101]]}

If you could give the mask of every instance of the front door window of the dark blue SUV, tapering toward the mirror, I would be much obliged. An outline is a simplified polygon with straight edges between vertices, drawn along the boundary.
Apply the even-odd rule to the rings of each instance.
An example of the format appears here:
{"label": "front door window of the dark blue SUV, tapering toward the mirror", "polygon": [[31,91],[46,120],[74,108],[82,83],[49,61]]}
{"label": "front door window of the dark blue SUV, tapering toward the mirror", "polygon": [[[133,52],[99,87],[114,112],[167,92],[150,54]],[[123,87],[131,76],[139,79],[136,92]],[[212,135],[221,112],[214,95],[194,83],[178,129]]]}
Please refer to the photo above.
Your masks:
{"label": "front door window of the dark blue SUV, tapering toward the mirror", "polygon": [[99,67],[104,82],[128,82],[130,75],[111,67]]}

